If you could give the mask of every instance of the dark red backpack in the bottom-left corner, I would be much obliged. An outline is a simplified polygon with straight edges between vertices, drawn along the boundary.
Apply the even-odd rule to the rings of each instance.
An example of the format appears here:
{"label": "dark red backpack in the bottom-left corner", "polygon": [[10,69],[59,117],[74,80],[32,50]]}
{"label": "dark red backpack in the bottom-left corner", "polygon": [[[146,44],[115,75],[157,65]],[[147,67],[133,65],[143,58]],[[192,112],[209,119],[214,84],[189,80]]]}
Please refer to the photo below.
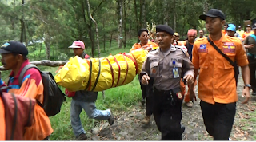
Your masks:
{"label": "dark red backpack in the bottom-left corner", "polygon": [[0,99],[5,109],[6,140],[23,140],[26,127],[34,122],[36,101],[13,93],[3,93],[2,90],[7,88],[4,86],[0,89]]}

